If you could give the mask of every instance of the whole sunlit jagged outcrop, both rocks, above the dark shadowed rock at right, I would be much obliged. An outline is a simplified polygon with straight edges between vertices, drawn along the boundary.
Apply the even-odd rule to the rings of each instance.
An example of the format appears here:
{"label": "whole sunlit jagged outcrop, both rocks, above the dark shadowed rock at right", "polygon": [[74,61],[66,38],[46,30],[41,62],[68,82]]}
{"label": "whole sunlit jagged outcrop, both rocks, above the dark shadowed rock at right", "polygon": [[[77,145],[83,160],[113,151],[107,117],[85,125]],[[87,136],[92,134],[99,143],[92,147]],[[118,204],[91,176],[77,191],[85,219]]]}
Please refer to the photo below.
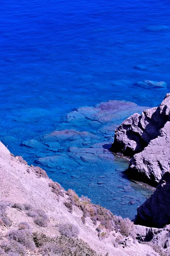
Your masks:
{"label": "whole sunlit jagged outcrop, both rocks, above the dark shadowed rock at right", "polygon": [[111,151],[132,157],[128,174],[156,186],[170,171],[170,93],[158,108],[133,114],[115,131]]}

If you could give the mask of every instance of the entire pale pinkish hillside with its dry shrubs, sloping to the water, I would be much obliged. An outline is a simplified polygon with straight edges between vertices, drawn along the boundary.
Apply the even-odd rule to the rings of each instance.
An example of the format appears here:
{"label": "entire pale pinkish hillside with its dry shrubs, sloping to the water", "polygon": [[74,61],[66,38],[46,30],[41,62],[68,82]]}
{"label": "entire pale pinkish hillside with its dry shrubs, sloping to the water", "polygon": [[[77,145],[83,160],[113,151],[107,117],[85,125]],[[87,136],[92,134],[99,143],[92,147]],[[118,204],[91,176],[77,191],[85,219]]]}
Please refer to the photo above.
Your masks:
{"label": "entire pale pinkish hillside with its dry shrubs, sloping to the water", "polygon": [[65,191],[2,143],[0,174],[0,256],[158,255],[133,242],[130,220]]}

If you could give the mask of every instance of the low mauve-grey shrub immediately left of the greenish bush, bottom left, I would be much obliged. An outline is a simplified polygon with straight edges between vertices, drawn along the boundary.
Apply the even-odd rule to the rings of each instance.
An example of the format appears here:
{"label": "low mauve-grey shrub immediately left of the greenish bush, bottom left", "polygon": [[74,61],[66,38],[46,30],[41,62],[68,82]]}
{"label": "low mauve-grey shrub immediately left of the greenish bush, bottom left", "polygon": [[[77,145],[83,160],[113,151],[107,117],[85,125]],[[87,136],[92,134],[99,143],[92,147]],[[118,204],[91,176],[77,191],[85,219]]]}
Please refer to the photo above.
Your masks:
{"label": "low mauve-grey shrub immediately left of the greenish bush, bottom left", "polygon": [[23,244],[26,248],[34,250],[35,244],[32,240],[32,232],[28,229],[26,230],[10,230],[7,233],[9,240],[14,240],[20,244]]}

